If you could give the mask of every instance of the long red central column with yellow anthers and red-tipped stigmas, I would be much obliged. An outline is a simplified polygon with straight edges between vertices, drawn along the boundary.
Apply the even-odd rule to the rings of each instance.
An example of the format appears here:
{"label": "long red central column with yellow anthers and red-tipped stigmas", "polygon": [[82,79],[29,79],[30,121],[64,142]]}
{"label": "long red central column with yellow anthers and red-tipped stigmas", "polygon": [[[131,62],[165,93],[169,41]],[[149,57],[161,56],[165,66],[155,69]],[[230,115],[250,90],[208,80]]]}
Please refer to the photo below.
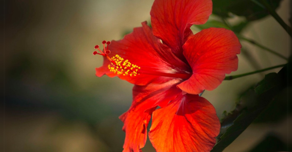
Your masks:
{"label": "long red central column with yellow anthers and red-tipped stigmas", "polygon": [[[99,54],[106,57],[111,62],[111,64],[107,66],[109,68],[109,71],[117,73],[117,75],[124,75],[124,76],[129,75],[132,77],[132,76],[140,75],[141,73],[141,74],[147,74],[147,75],[157,75],[157,76],[174,77],[174,78],[182,78],[182,79],[188,79],[192,76],[191,73],[164,73],[164,72],[157,72],[157,71],[142,70],[141,67],[132,64],[128,60],[124,60],[124,58],[121,58],[118,54],[116,54],[113,57],[110,57],[109,54],[111,53],[111,51],[108,49],[109,44],[111,44],[110,41],[108,42],[102,41],[102,44],[103,44],[104,52],[102,52],[99,49],[99,46],[96,45],[94,48],[98,49],[100,53],[98,53],[97,51],[94,51],[93,55]],[[106,47],[105,47],[105,44],[107,44]]]}

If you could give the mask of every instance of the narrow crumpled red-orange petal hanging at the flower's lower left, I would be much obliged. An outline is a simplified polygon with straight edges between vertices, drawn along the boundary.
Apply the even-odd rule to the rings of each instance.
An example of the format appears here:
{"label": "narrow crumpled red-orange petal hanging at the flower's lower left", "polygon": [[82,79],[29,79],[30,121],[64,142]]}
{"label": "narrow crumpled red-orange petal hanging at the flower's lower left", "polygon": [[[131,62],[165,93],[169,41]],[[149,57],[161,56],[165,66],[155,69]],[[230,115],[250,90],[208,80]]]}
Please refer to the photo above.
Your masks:
{"label": "narrow crumpled red-orange petal hanging at the flower's lower left", "polygon": [[181,80],[173,79],[164,84],[135,85],[133,103],[130,109],[119,118],[124,122],[126,132],[124,151],[139,151],[147,139],[147,125],[157,106],[164,107],[176,98],[181,90],[175,87]]}

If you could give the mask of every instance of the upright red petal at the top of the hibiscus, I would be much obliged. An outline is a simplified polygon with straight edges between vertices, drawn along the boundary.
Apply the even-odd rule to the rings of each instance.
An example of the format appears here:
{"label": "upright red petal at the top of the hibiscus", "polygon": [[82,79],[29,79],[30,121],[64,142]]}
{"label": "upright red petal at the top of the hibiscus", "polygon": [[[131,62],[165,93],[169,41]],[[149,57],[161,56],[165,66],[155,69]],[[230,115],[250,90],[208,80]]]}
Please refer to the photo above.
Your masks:
{"label": "upright red petal at the top of the hibiscus", "polygon": [[181,47],[192,35],[190,27],[206,23],[211,13],[211,0],[155,0],[150,12],[153,34],[183,57]]}

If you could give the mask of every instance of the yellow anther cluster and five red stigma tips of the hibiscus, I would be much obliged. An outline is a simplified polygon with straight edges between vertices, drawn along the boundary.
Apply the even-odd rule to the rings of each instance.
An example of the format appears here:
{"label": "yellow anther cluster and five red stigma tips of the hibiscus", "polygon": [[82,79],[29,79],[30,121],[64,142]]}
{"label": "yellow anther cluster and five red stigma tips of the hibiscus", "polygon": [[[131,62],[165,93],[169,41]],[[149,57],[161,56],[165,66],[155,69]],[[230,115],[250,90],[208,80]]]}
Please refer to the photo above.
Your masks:
{"label": "yellow anther cluster and five red stigma tips of the hibiscus", "polygon": [[[135,64],[132,64],[130,61],[125,60],[124,58],[120,57],[118,54],[116,54],[113,57],[109,56],[109,54],[111,53],[111,51],[108,49],[109,44],[111,44],[110,41],[108,42],[102,41],[102,44],[103,44],[103,52],[99,49],[99,46],[96,45],[94,48],[98,49],[100,53],[98,53],[97,51],[94,51],[93,55],[99,54],[106,57],[107,60],[111,62],[111,64],[107,66],[110,72],[114,72],[117,75],[124,75],[124,76],[130,76],[130,77],[140,75],[138,70],[141,69],[141,67]],[[105,47],[105,44],[107,44],[106,47]]]}

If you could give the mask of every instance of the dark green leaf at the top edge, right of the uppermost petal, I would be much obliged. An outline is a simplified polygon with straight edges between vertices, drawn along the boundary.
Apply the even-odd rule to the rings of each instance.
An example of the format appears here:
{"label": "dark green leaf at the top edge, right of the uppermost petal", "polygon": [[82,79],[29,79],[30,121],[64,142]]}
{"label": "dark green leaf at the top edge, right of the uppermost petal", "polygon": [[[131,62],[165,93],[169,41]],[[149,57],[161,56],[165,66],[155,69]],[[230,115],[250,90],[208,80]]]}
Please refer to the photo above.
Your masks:
{"label": "dark green leaf at the top edge, right of the uppermost petal", "polygon": [[[281,0],[268,0],[268,2],[275,9]],[[227,18],[232,16],[231,13],[245,16],[248,21],[269,15],[257,0],[213,0],[213,14]]]}

